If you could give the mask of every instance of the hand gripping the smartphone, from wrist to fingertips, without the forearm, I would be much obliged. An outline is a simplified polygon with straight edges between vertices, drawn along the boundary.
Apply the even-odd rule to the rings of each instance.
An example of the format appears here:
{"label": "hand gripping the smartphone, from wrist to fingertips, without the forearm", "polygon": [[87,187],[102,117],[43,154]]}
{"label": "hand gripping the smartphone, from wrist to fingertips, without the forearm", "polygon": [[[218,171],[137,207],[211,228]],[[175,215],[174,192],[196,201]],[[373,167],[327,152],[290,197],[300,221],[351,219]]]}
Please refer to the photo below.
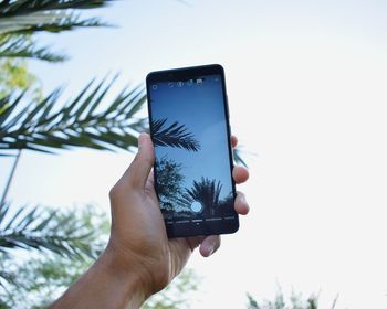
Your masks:
{"label": "hand gripping the smartphone, from wrist to fingertips, without the forearm", "polygon": [[[237,138],[231,138],[232,147]],[[142,134],[138,153],[124,175],[111,190],[112,232],[105,254],[121,273],[134,271],[146,296],[165,288],[182,269],[192,251],[199,247],[205,257],[220,246],[220,236],[168,239],[154,189],[151,168],[155,161],[150,137]],[[236,183],[248,180],[242,167],[232,172]],[[249,205],[238,192],[234,209],[247,214]]]}

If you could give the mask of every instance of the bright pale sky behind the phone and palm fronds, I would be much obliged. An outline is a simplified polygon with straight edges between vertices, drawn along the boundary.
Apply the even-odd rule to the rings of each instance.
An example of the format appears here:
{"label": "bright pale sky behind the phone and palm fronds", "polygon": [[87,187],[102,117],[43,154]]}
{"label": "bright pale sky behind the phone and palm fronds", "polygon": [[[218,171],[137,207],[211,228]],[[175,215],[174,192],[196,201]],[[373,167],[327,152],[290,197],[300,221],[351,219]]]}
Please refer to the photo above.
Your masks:
{"label": "bright pale sky behind the phone and palm fronds", "polygon": [[[194,308],[245,308],[247,291],[272,299],[278,283],[321,292],[322,308],[337,294],[337,308],[387,308],[387,2],[189,2],[95,11],[119,28],[44,35],[72,60],[33,72],[69,97],[108,72],[122,73],[118,90],[154,70],[222,64],[232,130],[258,154],[240,188],[252,211],[213,257],[189,263],[203,277]],[[108,210],[132,158],[25,151],[10,198]]]}

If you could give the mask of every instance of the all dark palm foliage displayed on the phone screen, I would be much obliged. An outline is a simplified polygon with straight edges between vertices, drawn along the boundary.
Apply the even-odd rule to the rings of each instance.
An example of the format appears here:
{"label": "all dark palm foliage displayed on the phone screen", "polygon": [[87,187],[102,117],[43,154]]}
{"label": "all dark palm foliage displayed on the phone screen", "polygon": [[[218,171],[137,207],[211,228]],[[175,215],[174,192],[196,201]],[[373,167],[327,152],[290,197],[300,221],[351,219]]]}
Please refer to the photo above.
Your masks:
{"label": "all dark palm foliage displayed on the phone screen", "polygon": [[[201,151],[201,145],[186,125],[178,121],[170,124],[167,118],[151,121],[156,148],[171,147],[180,149],[174,151],[194,153]],[[179,161],[179,157],[171,159],[168,152],[156,159],[157,193],[165,219],[217,216],[221,214],[221,209],[232,209],[232,192],[221,199],[221,181],[202,175],[194,179],[191,184],[187,183],[184,175],[186,164],[186,161]]]}

